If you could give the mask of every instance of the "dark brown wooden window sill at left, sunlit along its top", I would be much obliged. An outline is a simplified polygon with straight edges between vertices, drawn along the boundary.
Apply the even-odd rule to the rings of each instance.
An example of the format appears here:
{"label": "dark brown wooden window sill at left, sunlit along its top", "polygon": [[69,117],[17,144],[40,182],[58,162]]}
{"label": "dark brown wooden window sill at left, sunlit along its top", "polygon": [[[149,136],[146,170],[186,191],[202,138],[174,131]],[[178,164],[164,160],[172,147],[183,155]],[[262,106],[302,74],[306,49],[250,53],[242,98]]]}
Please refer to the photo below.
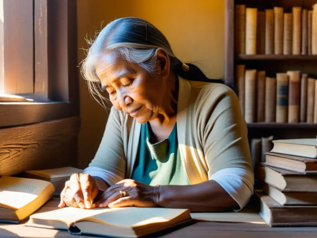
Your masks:
{"label": "dark brown wooden window sill at left, sunlit along its top", "polygon": [[0,102],[0,128],[79,116],[72,102]]}

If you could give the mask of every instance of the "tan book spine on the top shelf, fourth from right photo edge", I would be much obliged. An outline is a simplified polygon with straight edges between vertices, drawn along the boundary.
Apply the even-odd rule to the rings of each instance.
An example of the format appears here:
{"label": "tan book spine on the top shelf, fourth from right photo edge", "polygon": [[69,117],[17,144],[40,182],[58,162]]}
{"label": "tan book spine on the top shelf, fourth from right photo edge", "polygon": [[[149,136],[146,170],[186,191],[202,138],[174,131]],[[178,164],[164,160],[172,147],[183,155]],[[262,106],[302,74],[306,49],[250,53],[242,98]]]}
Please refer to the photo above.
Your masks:
{"label": "tan book spine on the top shelf, fourth from right photo edge", "polygon": [[293,7],[293,55],[301,54],[301,7]]}

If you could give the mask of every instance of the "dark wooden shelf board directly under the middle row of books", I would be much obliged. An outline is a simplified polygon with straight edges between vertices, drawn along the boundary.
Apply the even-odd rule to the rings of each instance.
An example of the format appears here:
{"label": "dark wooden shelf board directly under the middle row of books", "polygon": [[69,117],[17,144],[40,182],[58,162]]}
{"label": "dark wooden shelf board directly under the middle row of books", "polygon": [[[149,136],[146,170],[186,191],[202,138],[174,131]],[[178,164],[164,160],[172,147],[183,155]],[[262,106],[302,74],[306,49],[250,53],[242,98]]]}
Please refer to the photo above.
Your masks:
{"label": "dark wooden shelf board directly under the middle row of books", "polygon": [[317,129],[317,123],[276,123],[276,122],[253,122],[247,123],[248,128],[301,128]]}

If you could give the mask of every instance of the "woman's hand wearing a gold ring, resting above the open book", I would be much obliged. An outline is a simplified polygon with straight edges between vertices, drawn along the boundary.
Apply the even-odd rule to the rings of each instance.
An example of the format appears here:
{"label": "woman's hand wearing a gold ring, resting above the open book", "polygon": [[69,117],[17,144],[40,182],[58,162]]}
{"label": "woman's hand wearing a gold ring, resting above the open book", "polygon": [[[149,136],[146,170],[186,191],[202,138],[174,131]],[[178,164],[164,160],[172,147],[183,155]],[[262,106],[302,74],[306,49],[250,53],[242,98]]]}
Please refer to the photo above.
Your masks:
{"label": "woman's hand wearing a gold ring, resting above the open book", "polygon": [[94,200],[96,207],[157,207],[159,187],[124,179],[109,187]]}

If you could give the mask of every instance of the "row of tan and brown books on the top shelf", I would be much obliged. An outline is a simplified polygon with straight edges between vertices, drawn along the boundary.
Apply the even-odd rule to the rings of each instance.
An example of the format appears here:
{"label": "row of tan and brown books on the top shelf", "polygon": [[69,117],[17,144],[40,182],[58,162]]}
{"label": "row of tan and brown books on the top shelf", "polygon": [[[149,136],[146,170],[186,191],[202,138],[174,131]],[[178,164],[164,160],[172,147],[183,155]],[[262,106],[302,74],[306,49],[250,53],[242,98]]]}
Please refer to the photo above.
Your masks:
{"label": "row of tan and brown books on the top shelf", "polygon": [[317,55],[317,4],[313,10],[293,7],[291,13],[236,5],[235,53]]}

